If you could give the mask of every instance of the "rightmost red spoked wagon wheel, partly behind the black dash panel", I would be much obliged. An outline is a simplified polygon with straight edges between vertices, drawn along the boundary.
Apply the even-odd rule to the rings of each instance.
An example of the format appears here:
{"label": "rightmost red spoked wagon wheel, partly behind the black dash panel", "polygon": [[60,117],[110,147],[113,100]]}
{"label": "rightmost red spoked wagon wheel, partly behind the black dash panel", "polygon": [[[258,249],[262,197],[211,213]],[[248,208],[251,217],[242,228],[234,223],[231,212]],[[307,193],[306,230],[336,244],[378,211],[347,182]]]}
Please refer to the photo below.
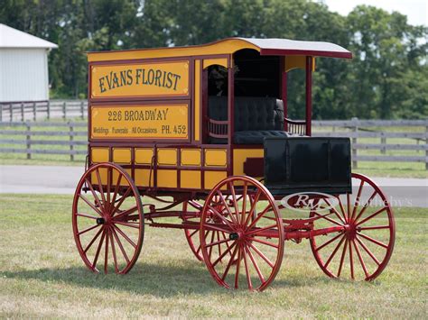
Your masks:
{"label": "rightmost red spoked wagon wheel, partly behind the black dash panel", "polygon": [[[331,278],[373,280],[385,269],[394,249],[395,221],[382,190],[368,177],[353,173],[357,192],[336,197],[331,215],[315,221],[317,228],[343,225],[344,232],[311,238],[311,248],[320,268]],[[324,199],[330,206],[332,199]],[[311,213],[325,215],[326,212]]]}

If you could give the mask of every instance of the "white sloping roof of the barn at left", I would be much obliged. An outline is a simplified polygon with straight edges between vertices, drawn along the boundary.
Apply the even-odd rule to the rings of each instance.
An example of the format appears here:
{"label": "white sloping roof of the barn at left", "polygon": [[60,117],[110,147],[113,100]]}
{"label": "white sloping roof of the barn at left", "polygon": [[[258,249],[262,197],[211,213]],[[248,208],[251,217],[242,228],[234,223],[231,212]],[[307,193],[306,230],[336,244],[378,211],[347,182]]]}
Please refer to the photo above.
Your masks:
{"label": "white sloping roof of the barn at left", "polygon": [[0,23],[0,48],[58,48],[55,43],[37,38]]}

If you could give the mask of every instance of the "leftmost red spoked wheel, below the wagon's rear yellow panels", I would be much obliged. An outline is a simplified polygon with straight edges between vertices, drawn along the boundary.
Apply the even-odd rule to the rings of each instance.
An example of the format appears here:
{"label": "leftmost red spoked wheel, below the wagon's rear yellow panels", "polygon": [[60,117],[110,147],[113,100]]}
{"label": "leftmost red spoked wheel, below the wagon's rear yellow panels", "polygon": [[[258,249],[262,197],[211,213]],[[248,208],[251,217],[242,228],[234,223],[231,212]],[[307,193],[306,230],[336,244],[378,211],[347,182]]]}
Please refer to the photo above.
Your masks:
{"label": "leftmost red spoked wheel, below the wagon's rear yellow panels", "polygon": [[132,269],[144,239],[141,198],[132,178],[113,163],[90,167],[73,200],[73,233],[89,270],[98,265],[116,273]]}

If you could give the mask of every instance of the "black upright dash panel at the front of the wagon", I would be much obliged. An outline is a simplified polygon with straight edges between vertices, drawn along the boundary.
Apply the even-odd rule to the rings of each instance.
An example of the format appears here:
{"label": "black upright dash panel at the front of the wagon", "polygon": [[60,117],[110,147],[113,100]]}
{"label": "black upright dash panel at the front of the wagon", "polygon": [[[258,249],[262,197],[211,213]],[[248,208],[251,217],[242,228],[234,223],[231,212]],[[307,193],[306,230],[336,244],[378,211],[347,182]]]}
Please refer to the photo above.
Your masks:
{"label": "black upright dash panel at the front of the wagon", "polygon": [[265,139],[265,185],[277,195],[351,192],[349,139]]}

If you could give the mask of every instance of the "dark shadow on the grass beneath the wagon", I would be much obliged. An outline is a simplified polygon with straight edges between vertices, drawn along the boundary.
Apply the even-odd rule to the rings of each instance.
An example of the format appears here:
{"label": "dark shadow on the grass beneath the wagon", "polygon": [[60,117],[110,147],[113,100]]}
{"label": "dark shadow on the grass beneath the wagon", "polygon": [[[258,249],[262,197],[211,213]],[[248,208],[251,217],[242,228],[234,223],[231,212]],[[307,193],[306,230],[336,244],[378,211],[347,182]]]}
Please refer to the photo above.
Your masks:
{"label": "dark shadow on the grass beneath the wagon", "polygon": [[[281,271],[280,271],[281,272]],[[191,293],[202,295],[206,293],[230,293],[211,278],[203,263],[184,262],[177,265],[160,265],[152,263],[138,263],[126,275],[94,274],[84,267],[66,269],[40,269],[3,271],[0,277],[9,279],[36,279],[44,282],[67,283],[83,288],[101,288],[132,292],[140,295],[149,294],[156,297],[173,297]],[[245,279],[242,279],[245,281]],[[293,275],[287,279],[275,279],[269,288],[296,288],[316,286],[325,283],[325,277],[305,279],[304,275]],[[241,279],[239,280],[241,282]],[[247,289],[238,290],[247,293]]]}

